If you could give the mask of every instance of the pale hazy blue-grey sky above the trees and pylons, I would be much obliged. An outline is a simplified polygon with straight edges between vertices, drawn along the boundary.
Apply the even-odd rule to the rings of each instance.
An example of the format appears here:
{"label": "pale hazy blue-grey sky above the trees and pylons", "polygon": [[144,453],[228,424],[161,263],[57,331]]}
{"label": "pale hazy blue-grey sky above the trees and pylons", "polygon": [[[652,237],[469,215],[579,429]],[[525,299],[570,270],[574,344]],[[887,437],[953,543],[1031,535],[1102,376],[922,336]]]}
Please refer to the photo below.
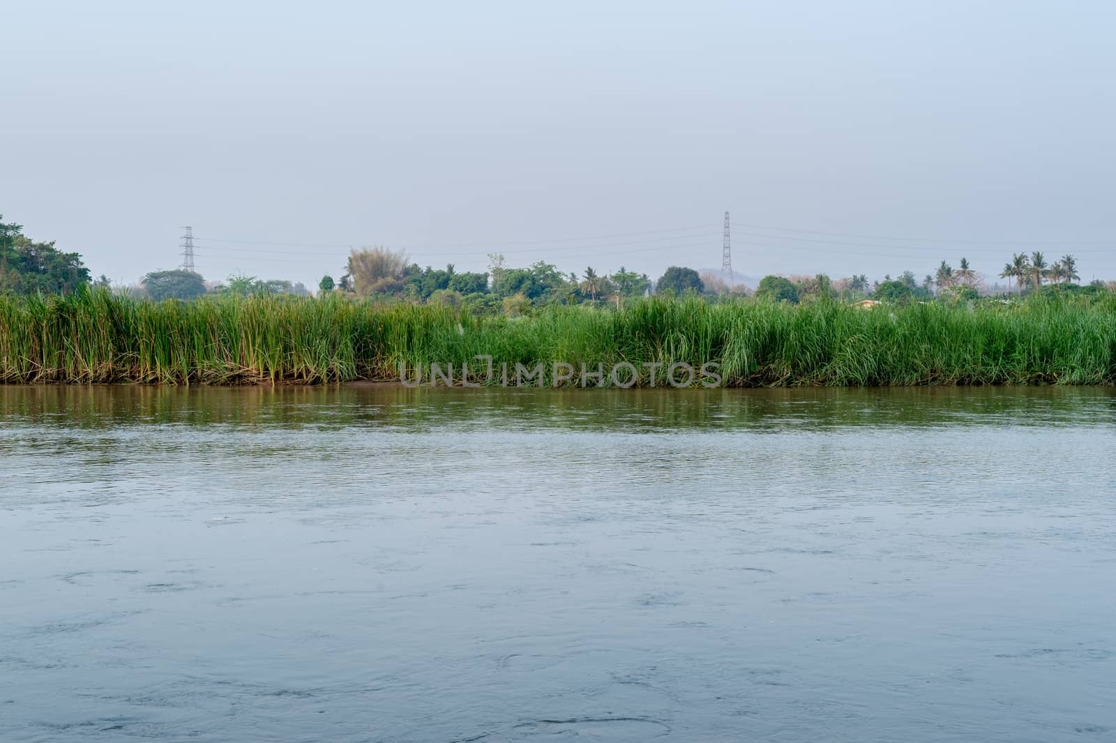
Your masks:
{"label": "pale hazy blue-grey sky above the trees and pylons", "polygon": [[16,0],[2,23],[0,213],[114,280],[174,268],[185,224],[208,279],[317,283],[373,244],[657,277],[720,267],[724,210],[749,276],[1042,249],[1116,278],[1108,0]]}

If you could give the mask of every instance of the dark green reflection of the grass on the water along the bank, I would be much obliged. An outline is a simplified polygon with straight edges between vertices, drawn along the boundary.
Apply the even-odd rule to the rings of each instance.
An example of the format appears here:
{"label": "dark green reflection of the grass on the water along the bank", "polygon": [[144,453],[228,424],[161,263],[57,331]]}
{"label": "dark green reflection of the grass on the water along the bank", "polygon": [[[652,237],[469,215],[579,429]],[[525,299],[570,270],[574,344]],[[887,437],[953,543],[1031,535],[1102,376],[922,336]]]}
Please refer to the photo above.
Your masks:
{"label": "dark green reflection of the grass on the water along the bank", "polygon": [[682,430],[1037,425],[1116,421],[1107,387],[869,389],[407,389],[331,387],[2,386],[0,425],[119,423],[230,426],[521,426]]}

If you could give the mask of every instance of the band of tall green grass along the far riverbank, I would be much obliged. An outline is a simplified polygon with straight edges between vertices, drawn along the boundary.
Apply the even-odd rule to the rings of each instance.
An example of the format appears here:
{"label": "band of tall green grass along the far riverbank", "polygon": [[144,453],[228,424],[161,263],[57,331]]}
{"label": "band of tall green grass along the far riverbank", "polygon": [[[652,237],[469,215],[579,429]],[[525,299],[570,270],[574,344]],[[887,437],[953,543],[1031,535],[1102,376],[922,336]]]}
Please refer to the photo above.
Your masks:
{"label": "band of tall green grass along the far riverbank", "polygon": [[496,384],[502,364],[539,363],[549,384],[555,361],[602,364],[605,384],[619,361],[641,384],[646,363],[706,361],[729,386],[1116,384],[1116,299],[870,310],[651,299],[508,318],[339,298],[0,297],[4,383],[388,380],[405,364],[429,384],[431,363],[453,364],[460,380],[462,364],[483,369],[478,355],[493,357]]}

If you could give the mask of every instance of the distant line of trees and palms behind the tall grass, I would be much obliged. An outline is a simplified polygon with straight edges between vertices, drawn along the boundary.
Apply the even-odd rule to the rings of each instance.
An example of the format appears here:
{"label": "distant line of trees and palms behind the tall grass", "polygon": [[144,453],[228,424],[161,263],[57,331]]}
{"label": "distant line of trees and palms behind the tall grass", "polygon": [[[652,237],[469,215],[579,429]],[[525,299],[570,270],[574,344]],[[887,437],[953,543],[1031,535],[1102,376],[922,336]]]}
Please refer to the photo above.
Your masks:
{"label": "distant line of trees and palms behind the tall grass", "polygon": [[[1097,293],[1116,290],[1116,283],[1080,280],[1077,260],[1071,254],[1049,261],[1041,251],[1014,253],[1004,263],[999,278],[1008,279],[1008,291],[1022,296],[1033,291]],[[22,225],[4,223],[0,215],[0,293],[67,293],[90,284],[108,287],[102,276],[93,280],[76,252],[56,248],[54,242],[36,242],[22,232]],[[468,307],[482,312],[519,313],[531,306],[587,303],[620,306],[627,299],[656,293],[698,295],[710,299],[745,296],[744,287],[728,287],[714,272],[699,273],[672,266],[653,280],[647,273],[629,271],[598,272],[587,267],[580,274],[560,271],[554,263],[536,261],[512,267],[500,253],[489,254],[487,271],[458,271],[453,263],[444,269],[421,267],[403,251],[387,248],[350,250],[344,272],[337,281],[325,276],[319,295],[340,293],[386,301],[429,302]],[[984,279],[961,258],[956,269],[942,260],[934,273],[921,280],[912,271],[896,278],[869,282],[864,273],[840,279],[827,274],[763,277],[752,293],[757,299],[809,302],[821,298],[860,301],[905,301],[975,299],[987,293]],[[194,299],[205,295],[310,293],[301,283],[281,279],[264,280],[234,274],[224,281],[206,282],[191,271],[154,271],[131,290],[155,300]],[[994,293],[994,292],[993,292]]]}

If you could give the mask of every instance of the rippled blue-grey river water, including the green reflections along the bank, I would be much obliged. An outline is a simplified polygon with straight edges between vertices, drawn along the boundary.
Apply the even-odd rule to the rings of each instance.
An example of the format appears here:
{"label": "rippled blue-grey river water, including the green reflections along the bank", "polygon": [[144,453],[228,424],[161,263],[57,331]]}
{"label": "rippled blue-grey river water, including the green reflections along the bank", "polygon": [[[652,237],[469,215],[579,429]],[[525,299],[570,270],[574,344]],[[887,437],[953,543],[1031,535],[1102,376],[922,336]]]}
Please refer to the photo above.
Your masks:
{"label": "rippled blue-grey river water, including the green reflections along the bank", "polygon": [[0,740],[1116,737],[1116,392],[0,387]]}

